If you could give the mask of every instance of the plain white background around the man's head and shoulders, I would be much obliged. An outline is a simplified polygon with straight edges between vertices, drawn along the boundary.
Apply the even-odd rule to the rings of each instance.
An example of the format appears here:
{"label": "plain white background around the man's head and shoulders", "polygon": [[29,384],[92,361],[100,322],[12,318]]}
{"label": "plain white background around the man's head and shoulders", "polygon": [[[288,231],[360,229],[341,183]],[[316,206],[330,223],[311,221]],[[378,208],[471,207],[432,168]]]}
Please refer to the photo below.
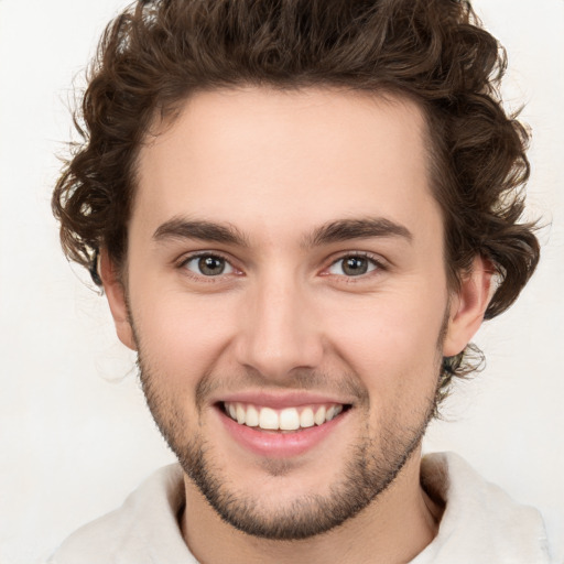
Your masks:
{"label": "plain white background around the man's head and shoulders", "polygon": [[[105,300],[58,248],[50,192],[73,82],[121,0],[0,0],[0,562],[41,562],[172,462]],[[564,531],[564,2],[480,0],[508,47],[510,107],[534,131],[530,204],[552,227],[518,304],[477,338],[426,451],[452,449]],[[76,78],[78,77],[78,78]],[[84,280],[84,279],[83,279]],[[562,541],[561,541],[562,544]],[[558,562],[564,560],[558,550]]]}

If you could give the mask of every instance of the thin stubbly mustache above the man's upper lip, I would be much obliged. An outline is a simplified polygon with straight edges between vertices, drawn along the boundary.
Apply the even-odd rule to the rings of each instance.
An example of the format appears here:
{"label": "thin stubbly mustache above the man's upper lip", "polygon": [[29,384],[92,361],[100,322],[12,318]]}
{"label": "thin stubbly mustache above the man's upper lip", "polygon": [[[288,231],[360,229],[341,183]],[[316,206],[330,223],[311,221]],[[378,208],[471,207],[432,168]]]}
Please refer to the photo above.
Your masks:
{"label": "thin stubbly mustache above the man's upper lip", "polygon": [[260,391],[307,390],[330,393],[346,398],[355,398],[358,403],[366,404],[369,394],[360,378],[354,372],[330,375],[307,368],[296,368],[284,378],[272,379],[253,368],[239,369],[229,376],[215,371],[204,373],[195,390],[198,411],[209,403],[209,398],[218,394],[234,393],[245,389]]}

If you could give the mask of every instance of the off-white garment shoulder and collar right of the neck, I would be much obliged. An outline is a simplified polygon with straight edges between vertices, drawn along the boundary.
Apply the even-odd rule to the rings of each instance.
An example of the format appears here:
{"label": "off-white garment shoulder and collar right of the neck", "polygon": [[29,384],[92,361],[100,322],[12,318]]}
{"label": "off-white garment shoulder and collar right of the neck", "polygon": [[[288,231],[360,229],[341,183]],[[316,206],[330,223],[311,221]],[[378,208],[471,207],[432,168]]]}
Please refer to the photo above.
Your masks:
{"label": "off-white garment shoulder and collar right of the neck", "polygon": [[541,514],[517,503],[453,453],[423,457],[421,482],[443,500],[445,511],[435,540],[413,561],[544,564],[549,542]]}

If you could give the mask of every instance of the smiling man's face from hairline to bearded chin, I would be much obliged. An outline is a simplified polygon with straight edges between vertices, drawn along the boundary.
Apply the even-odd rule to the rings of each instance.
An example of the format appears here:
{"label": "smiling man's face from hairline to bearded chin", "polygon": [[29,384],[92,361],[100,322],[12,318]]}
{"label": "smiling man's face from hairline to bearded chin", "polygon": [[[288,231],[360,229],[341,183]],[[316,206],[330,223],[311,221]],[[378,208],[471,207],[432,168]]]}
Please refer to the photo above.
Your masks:
{"label": "smiling man's face from hairline to bearded chin", "polygon": [[191,482],[248,533],[326,531],[417,453],[460,308],[424,130],[408,101],[249,88],[141,150],[129,315],[108,297]]}

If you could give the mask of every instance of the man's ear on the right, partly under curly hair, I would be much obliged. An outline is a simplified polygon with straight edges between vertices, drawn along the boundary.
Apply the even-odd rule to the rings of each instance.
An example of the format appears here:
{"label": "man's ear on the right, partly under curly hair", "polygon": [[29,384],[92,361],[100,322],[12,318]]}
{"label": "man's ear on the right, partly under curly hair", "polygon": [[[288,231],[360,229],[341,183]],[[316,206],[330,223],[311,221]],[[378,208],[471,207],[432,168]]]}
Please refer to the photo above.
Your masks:
{"label": "man's ear on the right, partly under curly hair", "polygon": [[489,261],[476,257],[471,271],[463,278],[459,291],[451,300],[443,356],[453,357],[462,352],[479,329],[491,299],[491,274]]}

